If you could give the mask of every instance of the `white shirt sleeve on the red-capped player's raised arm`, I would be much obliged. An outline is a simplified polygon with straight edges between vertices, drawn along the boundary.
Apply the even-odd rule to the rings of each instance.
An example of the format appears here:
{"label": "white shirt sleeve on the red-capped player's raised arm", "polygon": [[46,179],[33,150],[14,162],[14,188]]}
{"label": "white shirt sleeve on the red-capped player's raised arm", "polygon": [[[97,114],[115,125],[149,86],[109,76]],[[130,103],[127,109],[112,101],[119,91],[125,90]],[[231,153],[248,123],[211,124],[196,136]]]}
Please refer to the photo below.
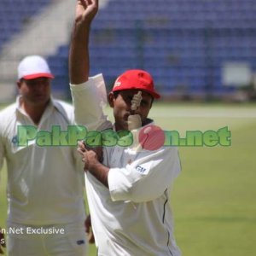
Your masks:
{"label": "white shirt sleeve on the red-capped player's raised arm", "polygon": [[107,104],[107,92],[102,74],[83,84],[70,84],[75,123],[88,130],[105,130],[112,127],[103,108]]}

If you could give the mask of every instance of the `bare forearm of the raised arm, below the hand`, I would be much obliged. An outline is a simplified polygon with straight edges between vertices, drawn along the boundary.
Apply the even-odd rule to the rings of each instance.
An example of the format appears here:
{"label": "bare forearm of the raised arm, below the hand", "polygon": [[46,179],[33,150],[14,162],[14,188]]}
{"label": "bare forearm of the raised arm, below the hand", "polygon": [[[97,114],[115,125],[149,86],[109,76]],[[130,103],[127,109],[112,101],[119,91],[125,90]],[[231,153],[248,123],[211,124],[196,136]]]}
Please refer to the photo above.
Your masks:
{"label": "bare forearm of the raised arm, below the hand", "polygon": [[82,84],[89,77],[90,22],[76,20],[69,50],[69,76],[71,84]]}

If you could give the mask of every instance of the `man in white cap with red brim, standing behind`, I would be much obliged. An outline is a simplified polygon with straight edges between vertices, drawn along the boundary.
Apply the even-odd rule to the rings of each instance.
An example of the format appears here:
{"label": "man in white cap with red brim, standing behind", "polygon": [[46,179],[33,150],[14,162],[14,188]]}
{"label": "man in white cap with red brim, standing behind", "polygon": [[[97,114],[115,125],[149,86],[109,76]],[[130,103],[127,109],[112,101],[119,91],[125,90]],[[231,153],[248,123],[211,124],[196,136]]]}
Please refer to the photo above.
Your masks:
{"label": "man in white cap with red brim, standing behind", "polygon": [[0,113],[0,168],[5,158],[8,172],[9,256],[86,255],[84,172],[76,148],[39,147],[35,139],[20,146],[17,134],[18,125],[38,131],[60,125],[65,131],[73,124],[73,107],[50,95],[51,79],[43,57],[27,56],[18,67],[20,96]]}

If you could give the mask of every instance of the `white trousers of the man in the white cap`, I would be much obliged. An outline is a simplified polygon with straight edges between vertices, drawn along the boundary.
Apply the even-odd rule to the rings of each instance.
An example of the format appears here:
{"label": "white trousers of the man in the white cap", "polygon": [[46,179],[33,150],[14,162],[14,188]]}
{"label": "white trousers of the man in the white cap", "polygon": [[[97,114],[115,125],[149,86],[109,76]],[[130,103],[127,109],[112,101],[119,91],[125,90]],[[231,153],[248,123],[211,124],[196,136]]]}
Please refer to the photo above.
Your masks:
{"label": "white trousers of the man in the white cap", "polygon": [[86,256],[84,222],[33,226],[8,223],[9,256]]}

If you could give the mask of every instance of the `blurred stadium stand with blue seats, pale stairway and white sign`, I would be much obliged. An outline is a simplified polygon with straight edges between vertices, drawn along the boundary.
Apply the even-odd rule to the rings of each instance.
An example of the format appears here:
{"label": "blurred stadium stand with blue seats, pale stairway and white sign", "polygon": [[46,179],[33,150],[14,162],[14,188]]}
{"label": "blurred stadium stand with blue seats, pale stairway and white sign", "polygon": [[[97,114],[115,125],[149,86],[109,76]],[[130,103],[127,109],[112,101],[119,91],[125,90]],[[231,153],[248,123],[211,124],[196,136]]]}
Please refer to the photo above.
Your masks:
{"label": "blurred stadium stand with blue seats, pale stairway and white sign", "polygon": [[[1,0],[1,102],[15,97],[16,67],[44,55],[56,96],[69,98],[67,55],[74,0]],[[90,37],[90,75],[110,88],[130,68],[154,76],[164,98],[256,98],[255,0],[101,0]]]}

